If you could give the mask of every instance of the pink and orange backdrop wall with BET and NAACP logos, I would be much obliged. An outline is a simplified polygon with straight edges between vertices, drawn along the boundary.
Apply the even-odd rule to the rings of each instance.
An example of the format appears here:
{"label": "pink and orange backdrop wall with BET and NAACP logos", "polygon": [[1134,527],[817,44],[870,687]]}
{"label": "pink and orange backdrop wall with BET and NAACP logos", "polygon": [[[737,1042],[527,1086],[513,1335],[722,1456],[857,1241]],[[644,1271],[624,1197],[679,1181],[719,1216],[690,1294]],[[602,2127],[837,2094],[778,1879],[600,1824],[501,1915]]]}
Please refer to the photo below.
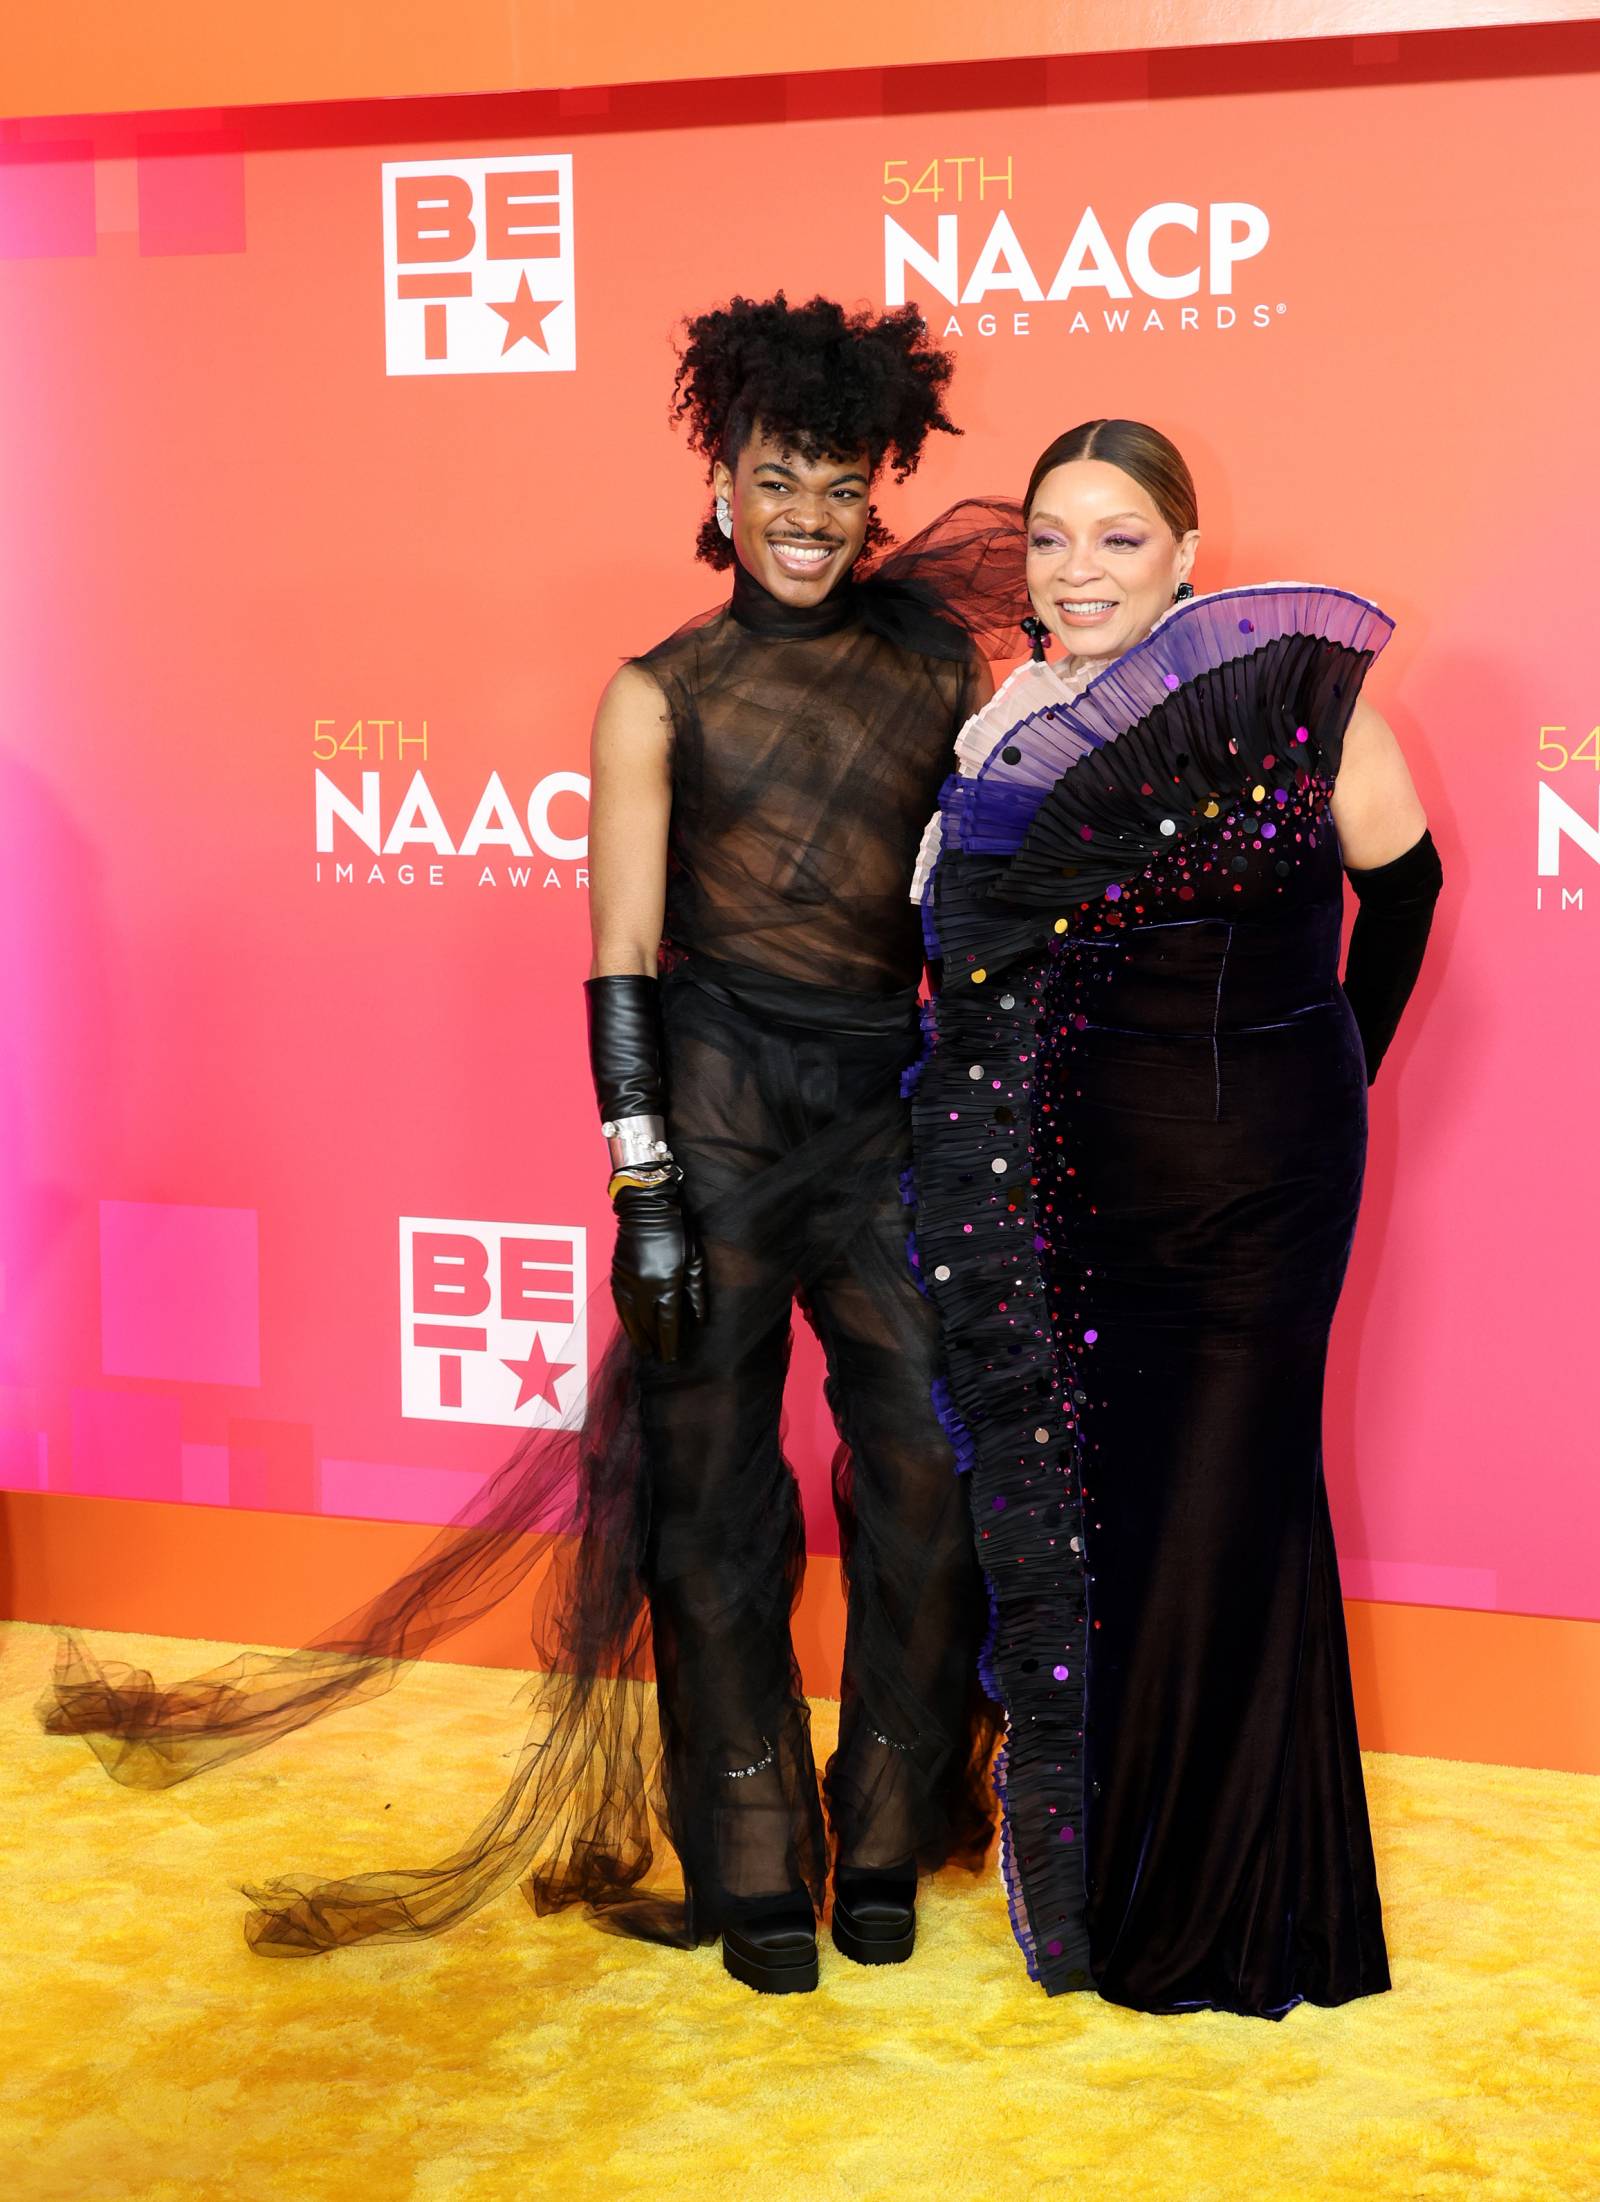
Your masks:
{"label": "pink and orange backdrop wall with BET and NAACP logos", "polygon": [[[1598,99],[1567,31],[4,126],[4,1486],[440,1522],[581,1400],[588,724],[720,592],[673,326],[783,284],[960,357],[900,528],[1138,414],[1202,586],[1395,614],[1345,1583],[1600,1614]],[[792,1445],[830,1548],[810,1354]]]}

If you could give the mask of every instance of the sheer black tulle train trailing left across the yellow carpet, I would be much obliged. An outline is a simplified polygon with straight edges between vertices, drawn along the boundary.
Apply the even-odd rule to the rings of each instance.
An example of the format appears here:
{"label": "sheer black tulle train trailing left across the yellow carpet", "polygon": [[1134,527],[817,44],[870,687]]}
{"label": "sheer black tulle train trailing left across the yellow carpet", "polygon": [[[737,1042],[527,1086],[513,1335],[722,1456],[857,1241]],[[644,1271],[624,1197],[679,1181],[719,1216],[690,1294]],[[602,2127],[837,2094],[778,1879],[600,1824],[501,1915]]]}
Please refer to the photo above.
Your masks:
{"label": "sheer black tulle train trailing left across the yellow carpet", "polygon": [[513,1781],[469,1841],[425,1869],[253,1887],[246,1936],[262,1955],[299,1955],[440,1933],[526,1876],[535,1909],[629,1905],[632,1931],[680,1940],[682,1903],[638,1896],[656,1858],[660,1762],[645,1687],[640,1489],[636,1363],[616,1341],[579,1431],[530,1434],[396,1583],[310,1645],[249,1652],[163,1689],[68,1636],[42,1722],[81,1735],[123,1786],[172,1788],[381,1696],[548,1563],[530,1640],[544,1669],[533,1726]]}

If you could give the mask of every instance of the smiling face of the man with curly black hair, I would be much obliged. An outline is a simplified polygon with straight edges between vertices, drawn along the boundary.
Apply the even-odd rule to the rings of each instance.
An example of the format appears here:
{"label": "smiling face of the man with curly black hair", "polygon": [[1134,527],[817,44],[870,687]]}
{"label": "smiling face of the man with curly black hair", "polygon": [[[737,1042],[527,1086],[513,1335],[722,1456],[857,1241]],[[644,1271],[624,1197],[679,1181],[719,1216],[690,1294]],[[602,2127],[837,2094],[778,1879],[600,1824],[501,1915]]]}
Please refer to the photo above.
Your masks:
{"label": "smiling face of the man with curly black hair", "polygon": [[733,506],[739,564],[781,603],[821,603],[861,557],[869,451],[812,460],[757,423],[737,467],[717,460],[713,487]]}

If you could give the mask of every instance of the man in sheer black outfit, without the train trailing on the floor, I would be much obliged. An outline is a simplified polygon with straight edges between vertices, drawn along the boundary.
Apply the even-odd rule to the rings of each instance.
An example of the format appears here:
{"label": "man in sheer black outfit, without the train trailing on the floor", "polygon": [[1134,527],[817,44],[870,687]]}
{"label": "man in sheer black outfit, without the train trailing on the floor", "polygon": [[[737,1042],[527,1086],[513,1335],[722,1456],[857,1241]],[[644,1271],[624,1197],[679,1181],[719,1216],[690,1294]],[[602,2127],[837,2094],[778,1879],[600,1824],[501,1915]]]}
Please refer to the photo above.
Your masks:
{"label": "man in sheer black outfit, without the train trailing on the floor", "polygon": [[667,1821],[691,1931],[770,1993],[817,1984],[825,1885],[779,1449],[794,1301],[843,1438],[836,1947],[909,1958],[918,1872],[977,1863],[990,1834],[984,1603],[902,1204],[907,883],[988,694],[933,592],[971,577],[977,522],[863,579],[874,484],[951,432],[949,374],[913,308],[779,295],[691,321],[678,414],[715,493],[700,557],[733,595],[625,665],[594,727],[590,1042],[640,1356]]}

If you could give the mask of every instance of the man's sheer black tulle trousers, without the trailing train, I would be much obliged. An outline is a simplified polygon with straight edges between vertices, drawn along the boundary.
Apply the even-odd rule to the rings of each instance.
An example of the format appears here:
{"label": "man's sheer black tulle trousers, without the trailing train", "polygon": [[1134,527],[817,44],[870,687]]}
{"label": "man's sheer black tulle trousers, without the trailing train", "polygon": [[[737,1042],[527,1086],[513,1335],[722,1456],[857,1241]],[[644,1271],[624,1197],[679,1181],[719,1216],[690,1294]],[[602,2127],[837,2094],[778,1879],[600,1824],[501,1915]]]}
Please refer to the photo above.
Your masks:
{"label": "man's sheer black tulle trousers, without the trailing train", "polygon": [[907,1262],[916,1006],[698,967],[669,982],[665,1015],[709,1317],[678,1363],[640,1370],[645,1583],[667,1825],[709,1936],[764,1896],[819,1898],[825,1878],[790,1640],[806,1537],[779,1438],[794,1304],[841,1434],[850,1607],[823,1784],[839,1856],[982,1854],[993,1715],[966,1493],[931,1405],[933,1315]]}

